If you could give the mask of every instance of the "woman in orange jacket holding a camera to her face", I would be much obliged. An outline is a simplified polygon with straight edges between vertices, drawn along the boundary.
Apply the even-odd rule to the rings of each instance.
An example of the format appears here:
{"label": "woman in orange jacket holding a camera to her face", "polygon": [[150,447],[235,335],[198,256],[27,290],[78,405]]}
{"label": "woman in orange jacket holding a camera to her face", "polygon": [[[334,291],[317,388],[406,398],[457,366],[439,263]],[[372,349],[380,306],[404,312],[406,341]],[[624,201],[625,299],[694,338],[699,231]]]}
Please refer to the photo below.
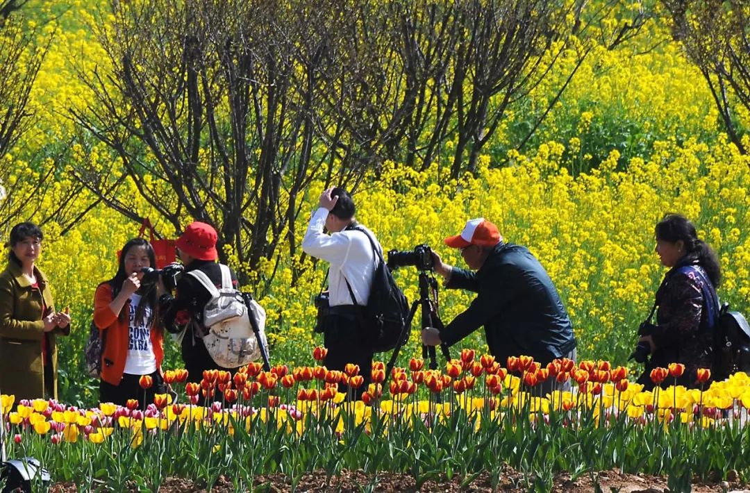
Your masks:
{"label": "woman in orange jacket holding a camera to her face", "polygon": [[[97,287],[94,323],[104,344],[99,400],[125,405],[137,399],[140,405],[166,392],[161,374],[164,357],[163,329],[157,323],[157,287],[141,284],[143,267],[154,267],[154,248],[145,239],[127,242],[120,254],[115,277]],[[143,388],[142,376],[151,377]],[[148,379],[144,379],[148,380]]]}

